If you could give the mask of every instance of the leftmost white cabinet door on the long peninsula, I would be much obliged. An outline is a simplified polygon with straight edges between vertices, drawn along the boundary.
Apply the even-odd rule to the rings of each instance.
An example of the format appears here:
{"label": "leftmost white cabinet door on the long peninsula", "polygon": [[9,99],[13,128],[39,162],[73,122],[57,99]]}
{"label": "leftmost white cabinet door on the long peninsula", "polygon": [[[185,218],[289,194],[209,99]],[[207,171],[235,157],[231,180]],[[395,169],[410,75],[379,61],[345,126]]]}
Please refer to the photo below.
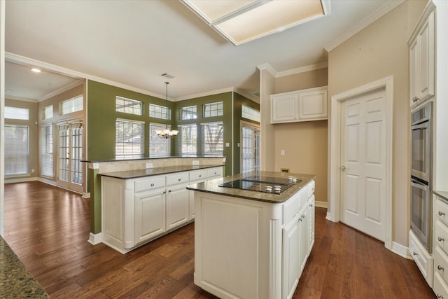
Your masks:
{"label": "leftmost white cabinet door on the long peninsula", "polygon": [[166,231],[165,189],[135,195],[135,244],[153,239]]}

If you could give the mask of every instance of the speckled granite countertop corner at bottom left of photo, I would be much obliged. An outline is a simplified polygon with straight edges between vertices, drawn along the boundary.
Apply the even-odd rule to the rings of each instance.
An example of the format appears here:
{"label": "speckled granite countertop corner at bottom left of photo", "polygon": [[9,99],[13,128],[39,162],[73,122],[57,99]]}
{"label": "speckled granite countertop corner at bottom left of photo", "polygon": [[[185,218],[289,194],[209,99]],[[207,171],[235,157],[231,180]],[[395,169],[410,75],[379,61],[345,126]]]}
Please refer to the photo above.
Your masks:
{"label": "speckled granite countertop corner at bottom left of photo", "polygon": [[48,298],[40,284],[0,237],[0,298]]}

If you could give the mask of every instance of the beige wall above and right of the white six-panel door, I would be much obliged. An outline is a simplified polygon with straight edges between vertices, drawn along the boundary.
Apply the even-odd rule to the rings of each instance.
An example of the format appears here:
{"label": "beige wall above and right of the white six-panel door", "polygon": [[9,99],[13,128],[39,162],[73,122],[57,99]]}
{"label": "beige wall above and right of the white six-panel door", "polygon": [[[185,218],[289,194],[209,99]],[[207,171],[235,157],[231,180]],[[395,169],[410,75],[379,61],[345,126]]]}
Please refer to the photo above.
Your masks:
{"label": "beige wall above and right of the white six-panel door", "polygon": [[[407,40],[426,6],[405,1],[328,53],[329,97],[393,76],[393,242],[409,231],[409,55]],[[330,144],[331,150],[331,144]]]}

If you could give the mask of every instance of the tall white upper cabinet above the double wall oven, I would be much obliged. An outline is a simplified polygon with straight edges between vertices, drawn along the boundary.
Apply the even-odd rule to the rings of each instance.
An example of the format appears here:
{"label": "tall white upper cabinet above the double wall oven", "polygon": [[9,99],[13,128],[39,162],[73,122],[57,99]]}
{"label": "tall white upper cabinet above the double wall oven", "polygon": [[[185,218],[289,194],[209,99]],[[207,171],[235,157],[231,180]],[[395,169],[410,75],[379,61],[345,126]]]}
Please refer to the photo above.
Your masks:
{"label": "tall white upper cabinet above the double wall oven", "polygon": [[434,11],[423,14],[409,39],[409,87],[411,108],[434,95]]}

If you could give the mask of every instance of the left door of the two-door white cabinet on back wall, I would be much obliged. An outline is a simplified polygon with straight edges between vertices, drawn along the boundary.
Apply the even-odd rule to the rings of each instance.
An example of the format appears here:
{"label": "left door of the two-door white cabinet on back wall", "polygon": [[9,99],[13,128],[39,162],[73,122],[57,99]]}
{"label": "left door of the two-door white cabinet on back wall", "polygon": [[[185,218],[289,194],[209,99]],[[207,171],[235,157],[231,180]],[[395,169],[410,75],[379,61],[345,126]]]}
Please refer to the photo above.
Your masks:
{"label": "left door of the two-door white cabinet on back wall", "polygon": [[297,101],[297,94],[272,96],[271,123],[288,123],[299,120]]}

